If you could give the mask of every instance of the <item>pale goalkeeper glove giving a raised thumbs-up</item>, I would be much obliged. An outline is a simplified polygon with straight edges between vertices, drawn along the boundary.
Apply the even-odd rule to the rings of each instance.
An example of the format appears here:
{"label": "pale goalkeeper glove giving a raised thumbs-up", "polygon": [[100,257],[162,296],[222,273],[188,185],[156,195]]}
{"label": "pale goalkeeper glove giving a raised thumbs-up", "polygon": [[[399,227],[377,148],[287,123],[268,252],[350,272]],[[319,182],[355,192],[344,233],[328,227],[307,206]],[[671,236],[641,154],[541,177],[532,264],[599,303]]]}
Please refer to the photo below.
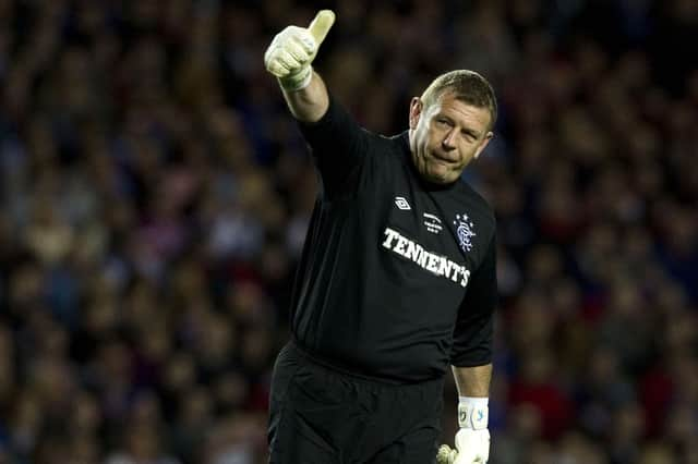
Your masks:
{"label": "pale goalkeeper glove giving a raised thumbs-up", "polygon": [[288,26],[278,33],[264,53],[264,65],[287,91],[308,87],[313,76],[311,63],[335,23],[332,10],[321,10],[310,26]]}

